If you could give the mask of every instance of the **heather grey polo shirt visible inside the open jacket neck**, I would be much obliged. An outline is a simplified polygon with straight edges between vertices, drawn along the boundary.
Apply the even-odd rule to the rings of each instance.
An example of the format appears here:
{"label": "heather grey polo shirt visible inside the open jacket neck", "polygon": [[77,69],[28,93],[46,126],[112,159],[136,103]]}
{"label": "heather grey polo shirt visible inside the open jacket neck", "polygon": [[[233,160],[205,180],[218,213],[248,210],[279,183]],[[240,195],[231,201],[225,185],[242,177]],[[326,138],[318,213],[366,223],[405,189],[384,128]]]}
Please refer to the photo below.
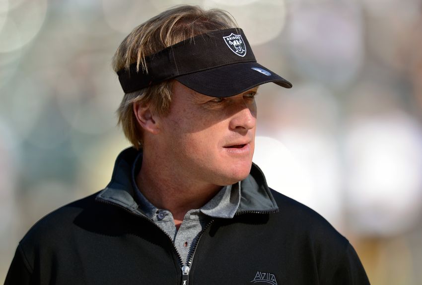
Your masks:
{"label": "heather grey polo shirt visible inside the open jacket neck", "polygon": [[132,167],[132,183],[136,193],[136,201],[141,212],[155,222],[173,240],[182,261],[187,264],[189,252],[199,237],[199,233],[213,217],[232,218],[240,203],[240,181],[233,185],[224,186],[200,209],[190,210],[185,214],[179,230],[174,224],[173,215],[165,209],[158,209],[152,205],[141,193],[135,177],[141,170],[142,152],[135,159]]}

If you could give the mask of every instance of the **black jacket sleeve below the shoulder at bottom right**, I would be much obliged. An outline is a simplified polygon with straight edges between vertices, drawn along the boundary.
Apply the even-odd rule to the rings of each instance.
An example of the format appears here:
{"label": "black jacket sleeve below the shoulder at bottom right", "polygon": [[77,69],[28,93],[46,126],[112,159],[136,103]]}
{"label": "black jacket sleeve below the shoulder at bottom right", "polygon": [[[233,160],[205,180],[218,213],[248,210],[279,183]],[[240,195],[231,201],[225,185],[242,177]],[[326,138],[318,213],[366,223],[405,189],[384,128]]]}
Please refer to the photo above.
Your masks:
{"label": "black jacket sleeve below the shoulder at bottom right", "polygon": [[369,285],[365,270],[350,243],[347,244],[339,262],[332,266],[334,272],[331,282],[322,284]]}

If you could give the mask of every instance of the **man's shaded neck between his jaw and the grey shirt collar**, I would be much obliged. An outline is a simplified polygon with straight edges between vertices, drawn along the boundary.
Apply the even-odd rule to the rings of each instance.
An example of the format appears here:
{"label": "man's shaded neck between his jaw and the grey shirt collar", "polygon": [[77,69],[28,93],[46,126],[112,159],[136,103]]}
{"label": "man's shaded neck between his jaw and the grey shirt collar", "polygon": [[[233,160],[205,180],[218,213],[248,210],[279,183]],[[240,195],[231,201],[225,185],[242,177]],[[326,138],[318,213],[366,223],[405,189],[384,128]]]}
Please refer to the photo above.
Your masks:
{"label": "man's shaded neck between his jaw and the grey shirt collar", "polygon": [[136,184],[152,205],[171,212],[177,228],[189,210],[207,204],[222,187],[195,180],[168,159],[145,152]]}

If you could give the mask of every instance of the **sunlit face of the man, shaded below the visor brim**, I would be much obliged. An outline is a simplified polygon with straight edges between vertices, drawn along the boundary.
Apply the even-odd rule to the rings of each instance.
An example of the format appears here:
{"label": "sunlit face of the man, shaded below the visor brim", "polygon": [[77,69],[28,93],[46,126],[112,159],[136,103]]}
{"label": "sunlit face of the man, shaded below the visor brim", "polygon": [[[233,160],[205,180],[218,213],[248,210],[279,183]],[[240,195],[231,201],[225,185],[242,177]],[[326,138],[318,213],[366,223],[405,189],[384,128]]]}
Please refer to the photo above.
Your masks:
{"label": "sunlit face of the man, shaded below the visor brim", "polygon": [[248,176],[255,147],[258,87],[215,98],[174,82],[169,114],[161,118],[160,145],[178,170],[214,185]]}

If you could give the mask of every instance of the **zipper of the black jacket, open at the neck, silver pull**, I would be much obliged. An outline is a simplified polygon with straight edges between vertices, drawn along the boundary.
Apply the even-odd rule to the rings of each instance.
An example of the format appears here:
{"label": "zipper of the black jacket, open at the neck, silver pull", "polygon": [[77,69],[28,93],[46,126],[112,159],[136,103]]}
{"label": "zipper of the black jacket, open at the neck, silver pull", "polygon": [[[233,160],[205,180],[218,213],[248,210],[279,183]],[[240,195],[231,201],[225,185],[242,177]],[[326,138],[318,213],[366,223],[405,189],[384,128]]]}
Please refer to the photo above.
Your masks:
{"label": "zipper of the black jacket, open at the neck, silver pull", "polygon": [[[153,220],[149,219],[146,216],[143,216],[143,215],[137,214],[135,212],[132,212],[129,209],[127,209],[126,207],[123,207],[123,206],[121,206],[119,204],[108,202],[108,201],[105,201],[105,200],[97,200],[97,201],[99,201],[101,203],[104,203],[104,204],[117,206],[117,207],[125,210],[126,212],[128,212],[130,214],[133,214],[135,216],[138,216],[138,217],[141,217],[141,218],[147,220],[148,222],[152,223],[155,227],[159,228],[170,239],[171,244],[173,246],[173,249],[174,249],[174,251],[177,254],[179,265],[180,265],[180,268],[182,270],[182,283],[181,283],[181,285],[189,285],[189,272],[190,272],[191,267],[192,267],[193,258],[195,257],[195,252],[196,252],[196,249],[198,247],[199,240],[201,239],[202,234],[204,233],[204,231],[211,225],[211,223],[214,221],[214,219],[211,219],[208,222],[208,224],[198,234],[198,238],[195,240],[194,246],[192,247],[192,250],[191,250],[191,252],[188,255],[187,264],[185,265],[185,264],[183,264],[182,256],[180,255],[179,251],[177,250],[176,246],[174,245],[173,239],[171,238],[171,236],[168,233],[166,233],[162,228],[160,228],[158,225],[156,225]],[[279,210],[271,210],[271,211],[242,211],[242,212],[236,213],[234,215],[240,215],[240,214],[273,214],[273,213],[277,213],[277,212],[279,212]]]}

